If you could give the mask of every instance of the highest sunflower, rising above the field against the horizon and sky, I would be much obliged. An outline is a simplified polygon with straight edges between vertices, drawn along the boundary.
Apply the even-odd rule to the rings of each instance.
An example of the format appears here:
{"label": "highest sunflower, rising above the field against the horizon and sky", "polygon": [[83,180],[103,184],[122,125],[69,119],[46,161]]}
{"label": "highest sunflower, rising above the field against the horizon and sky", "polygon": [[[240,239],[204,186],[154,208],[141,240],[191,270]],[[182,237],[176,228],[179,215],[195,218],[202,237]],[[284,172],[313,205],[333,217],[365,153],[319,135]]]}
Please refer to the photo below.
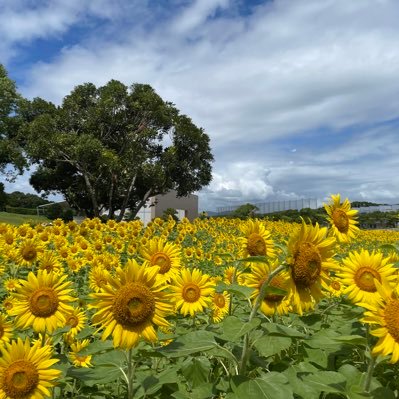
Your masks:
{"label": "highest sunflower, rising above the field against the horizon and sky", "polygon": [[331,202],[324,204],[324,209],[327,212],[333,235],[338,241],[348,242],[355,237],[355,233],[359,230],[355,219],[358,211],[351,209],[348,198],[341,203],[339,194],[331,195]]}

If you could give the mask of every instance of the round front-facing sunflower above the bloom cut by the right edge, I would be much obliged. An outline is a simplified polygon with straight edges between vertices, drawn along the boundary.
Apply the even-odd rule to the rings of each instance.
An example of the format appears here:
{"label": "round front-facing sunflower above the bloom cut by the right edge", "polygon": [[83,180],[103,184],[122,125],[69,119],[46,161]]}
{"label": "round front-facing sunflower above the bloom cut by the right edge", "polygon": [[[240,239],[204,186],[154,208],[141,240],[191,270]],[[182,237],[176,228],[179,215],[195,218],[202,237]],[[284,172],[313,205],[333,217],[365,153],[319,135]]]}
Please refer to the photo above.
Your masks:
{"label": "round front-facing sunflower above the bloom cut by the right edge", "polygon": [[343,259],[342,267],[337,272],[346,286],[344,294],[354,303],[366,302],[376,304],[380,295],[375,282],[396,283],[396,268],[389,263],[389,258],[384,258],[381,252],[369,252],[362,249],[354,251]]}

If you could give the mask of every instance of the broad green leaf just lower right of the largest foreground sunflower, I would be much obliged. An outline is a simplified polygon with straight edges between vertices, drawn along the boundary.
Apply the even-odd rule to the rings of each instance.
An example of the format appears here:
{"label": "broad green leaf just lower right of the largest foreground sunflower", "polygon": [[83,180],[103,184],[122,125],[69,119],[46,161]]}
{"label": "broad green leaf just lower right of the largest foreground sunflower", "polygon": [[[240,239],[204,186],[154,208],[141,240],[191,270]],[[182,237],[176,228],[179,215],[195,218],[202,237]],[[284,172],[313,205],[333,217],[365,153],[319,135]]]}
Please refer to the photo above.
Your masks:
{"label": "broad green leaf just lower right of the largest foreground sunflower", "polygon": [[180,336],[169,345],[159,349],[159,352],[168,357],[180,357],[204,352],[216,346],[214,334],[210,331],[200,330]]}

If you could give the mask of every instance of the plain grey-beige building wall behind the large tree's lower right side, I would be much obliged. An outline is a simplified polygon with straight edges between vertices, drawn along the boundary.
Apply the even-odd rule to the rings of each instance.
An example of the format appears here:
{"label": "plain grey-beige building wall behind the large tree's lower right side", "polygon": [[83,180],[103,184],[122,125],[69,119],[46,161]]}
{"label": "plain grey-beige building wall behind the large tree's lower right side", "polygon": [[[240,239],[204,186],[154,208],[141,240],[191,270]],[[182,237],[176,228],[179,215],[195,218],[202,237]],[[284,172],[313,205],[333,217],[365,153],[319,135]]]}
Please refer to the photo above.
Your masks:
{"label": "plain grey-beige building wall behind the large tree's lower right side", "polygon": [[190,194],[187,197],[176,197],[176,191],[172,190],[164,195],[157,195],[151,198],[151,217],[162,217],[168,208],[176,209],[179,218],[185,216],[189,220],[198,217],[198,196]]}

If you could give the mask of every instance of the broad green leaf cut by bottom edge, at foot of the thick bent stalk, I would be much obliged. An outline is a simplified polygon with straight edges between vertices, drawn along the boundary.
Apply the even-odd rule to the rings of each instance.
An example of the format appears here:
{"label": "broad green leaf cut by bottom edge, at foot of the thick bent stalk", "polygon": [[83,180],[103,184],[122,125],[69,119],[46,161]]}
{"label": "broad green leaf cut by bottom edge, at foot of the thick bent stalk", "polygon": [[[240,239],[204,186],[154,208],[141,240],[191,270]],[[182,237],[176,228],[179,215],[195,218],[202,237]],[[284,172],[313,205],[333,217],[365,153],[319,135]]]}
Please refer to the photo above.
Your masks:
{"label": "broad green leaf cut by bottom edge, at foot of the thick bent stalk", "polygon": [[234,394],[227,396],[240,399],[289,399],[293,392],[287,378],[276,372],[266,374],[262,378],[245,381],[235,388]]}

